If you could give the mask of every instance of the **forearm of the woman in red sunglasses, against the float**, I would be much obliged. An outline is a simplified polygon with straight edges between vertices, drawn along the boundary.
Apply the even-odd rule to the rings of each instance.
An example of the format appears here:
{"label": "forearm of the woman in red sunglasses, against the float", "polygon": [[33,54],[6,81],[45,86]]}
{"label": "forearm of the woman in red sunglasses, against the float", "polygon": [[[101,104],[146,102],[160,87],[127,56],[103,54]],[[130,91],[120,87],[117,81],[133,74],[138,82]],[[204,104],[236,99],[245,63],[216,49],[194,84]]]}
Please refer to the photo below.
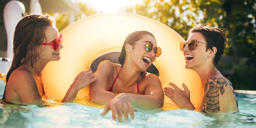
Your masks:
{"label": "forearm of the woman in red sunglasses, against the float", "polygon": [[73,88],[73,86],[71,85],[68,89],[68,92],[66,93],[65,97],[61,102],[63,103],[73,102],[76,99],[76,95],[78,91],[79,90],[77,90],[76,88]]}

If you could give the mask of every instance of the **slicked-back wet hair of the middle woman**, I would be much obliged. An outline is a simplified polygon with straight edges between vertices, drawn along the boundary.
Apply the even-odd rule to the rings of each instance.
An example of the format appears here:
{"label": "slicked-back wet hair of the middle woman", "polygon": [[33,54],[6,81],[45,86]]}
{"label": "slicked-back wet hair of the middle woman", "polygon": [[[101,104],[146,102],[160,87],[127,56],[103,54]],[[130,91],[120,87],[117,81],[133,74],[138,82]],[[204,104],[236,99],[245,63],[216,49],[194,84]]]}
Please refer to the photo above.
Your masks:
{"label": "slicked-back wet hair of the middle woman", "polygon": [[[135,31],[126,37],[126,39],[124,40],[124,44],[123,44],[120,56],[118,58],[118,61],[122,65],[122,67],[124,65],[125,56],[126,56],[125,44],[130,44],[131,46],[133,46],[135,44],[135,42],[133,41],[138,41],[147,35],[153,36],[155,38],[155,36],[148,31]],[[141,72],[141,75],[143,75],[143,72]]]}

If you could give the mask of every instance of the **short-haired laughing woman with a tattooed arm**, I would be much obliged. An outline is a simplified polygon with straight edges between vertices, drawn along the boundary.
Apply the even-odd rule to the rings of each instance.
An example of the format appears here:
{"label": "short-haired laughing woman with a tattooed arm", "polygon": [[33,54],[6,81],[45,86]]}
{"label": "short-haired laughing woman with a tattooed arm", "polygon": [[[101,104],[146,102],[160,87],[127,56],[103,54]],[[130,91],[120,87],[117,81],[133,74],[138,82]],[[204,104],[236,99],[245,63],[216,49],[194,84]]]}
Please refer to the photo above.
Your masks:
{"label": "short-haired laughing woman with a tattooed arm", "polygon": [[[203,85],[201,106],[190,101],[190,92],[183,83],[184,91],[174,83],[165,87],[167,97],[180,108],[200,109],[206,113],[238,112],[236,95],[230,81],[216,68],[227,44],[227,37],[220,28],[197,24],[190,29],[187,42],[180,43],[185,56],[185,68],[196,71]],[[184,78],[189,76],[184,76]]]}

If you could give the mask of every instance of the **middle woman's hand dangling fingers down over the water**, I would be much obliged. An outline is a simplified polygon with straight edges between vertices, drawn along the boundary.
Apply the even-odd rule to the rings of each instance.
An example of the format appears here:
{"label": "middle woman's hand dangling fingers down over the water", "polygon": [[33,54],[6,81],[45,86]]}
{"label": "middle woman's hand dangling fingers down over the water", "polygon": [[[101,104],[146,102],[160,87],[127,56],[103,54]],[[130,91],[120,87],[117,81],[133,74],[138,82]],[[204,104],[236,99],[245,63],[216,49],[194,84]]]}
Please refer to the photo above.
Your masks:
{"label": "middle woman's hand dangling fingers down over the water", "polygon": [[128,114],[130,114],[131,118],[133,119],[134,114],[131,101],[132,98],[128,93],[120,93],[108,102],[105,109],[101,113],[101,116],[106,115],[108,111],[111,110],[113,120],[116,120],[116,114],[118,122],[122,121],[123,114],[125,120],[128,120]]}

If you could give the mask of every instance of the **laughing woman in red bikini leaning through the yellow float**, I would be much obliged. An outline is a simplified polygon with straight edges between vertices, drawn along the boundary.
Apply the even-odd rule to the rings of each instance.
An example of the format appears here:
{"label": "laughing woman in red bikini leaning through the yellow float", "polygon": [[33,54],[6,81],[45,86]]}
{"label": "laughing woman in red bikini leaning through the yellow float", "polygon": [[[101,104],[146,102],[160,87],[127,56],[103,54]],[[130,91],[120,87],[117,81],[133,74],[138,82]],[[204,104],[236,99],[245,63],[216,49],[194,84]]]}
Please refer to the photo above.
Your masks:
{"label": "laughing woman in red bikini leaning through the yellow float", "polygon": [[148,31],[135,31],[124,41],[119,64],[108,60],[100,62],[94,73],[96,81],[89,85],[93,102],[106,104],[101,115],[112,111],[112,118],[133,119],[133,108],[152,110],[162,108],[164,92],[159,77],[147,73],[147,68],[159,57],[161,48]]}

